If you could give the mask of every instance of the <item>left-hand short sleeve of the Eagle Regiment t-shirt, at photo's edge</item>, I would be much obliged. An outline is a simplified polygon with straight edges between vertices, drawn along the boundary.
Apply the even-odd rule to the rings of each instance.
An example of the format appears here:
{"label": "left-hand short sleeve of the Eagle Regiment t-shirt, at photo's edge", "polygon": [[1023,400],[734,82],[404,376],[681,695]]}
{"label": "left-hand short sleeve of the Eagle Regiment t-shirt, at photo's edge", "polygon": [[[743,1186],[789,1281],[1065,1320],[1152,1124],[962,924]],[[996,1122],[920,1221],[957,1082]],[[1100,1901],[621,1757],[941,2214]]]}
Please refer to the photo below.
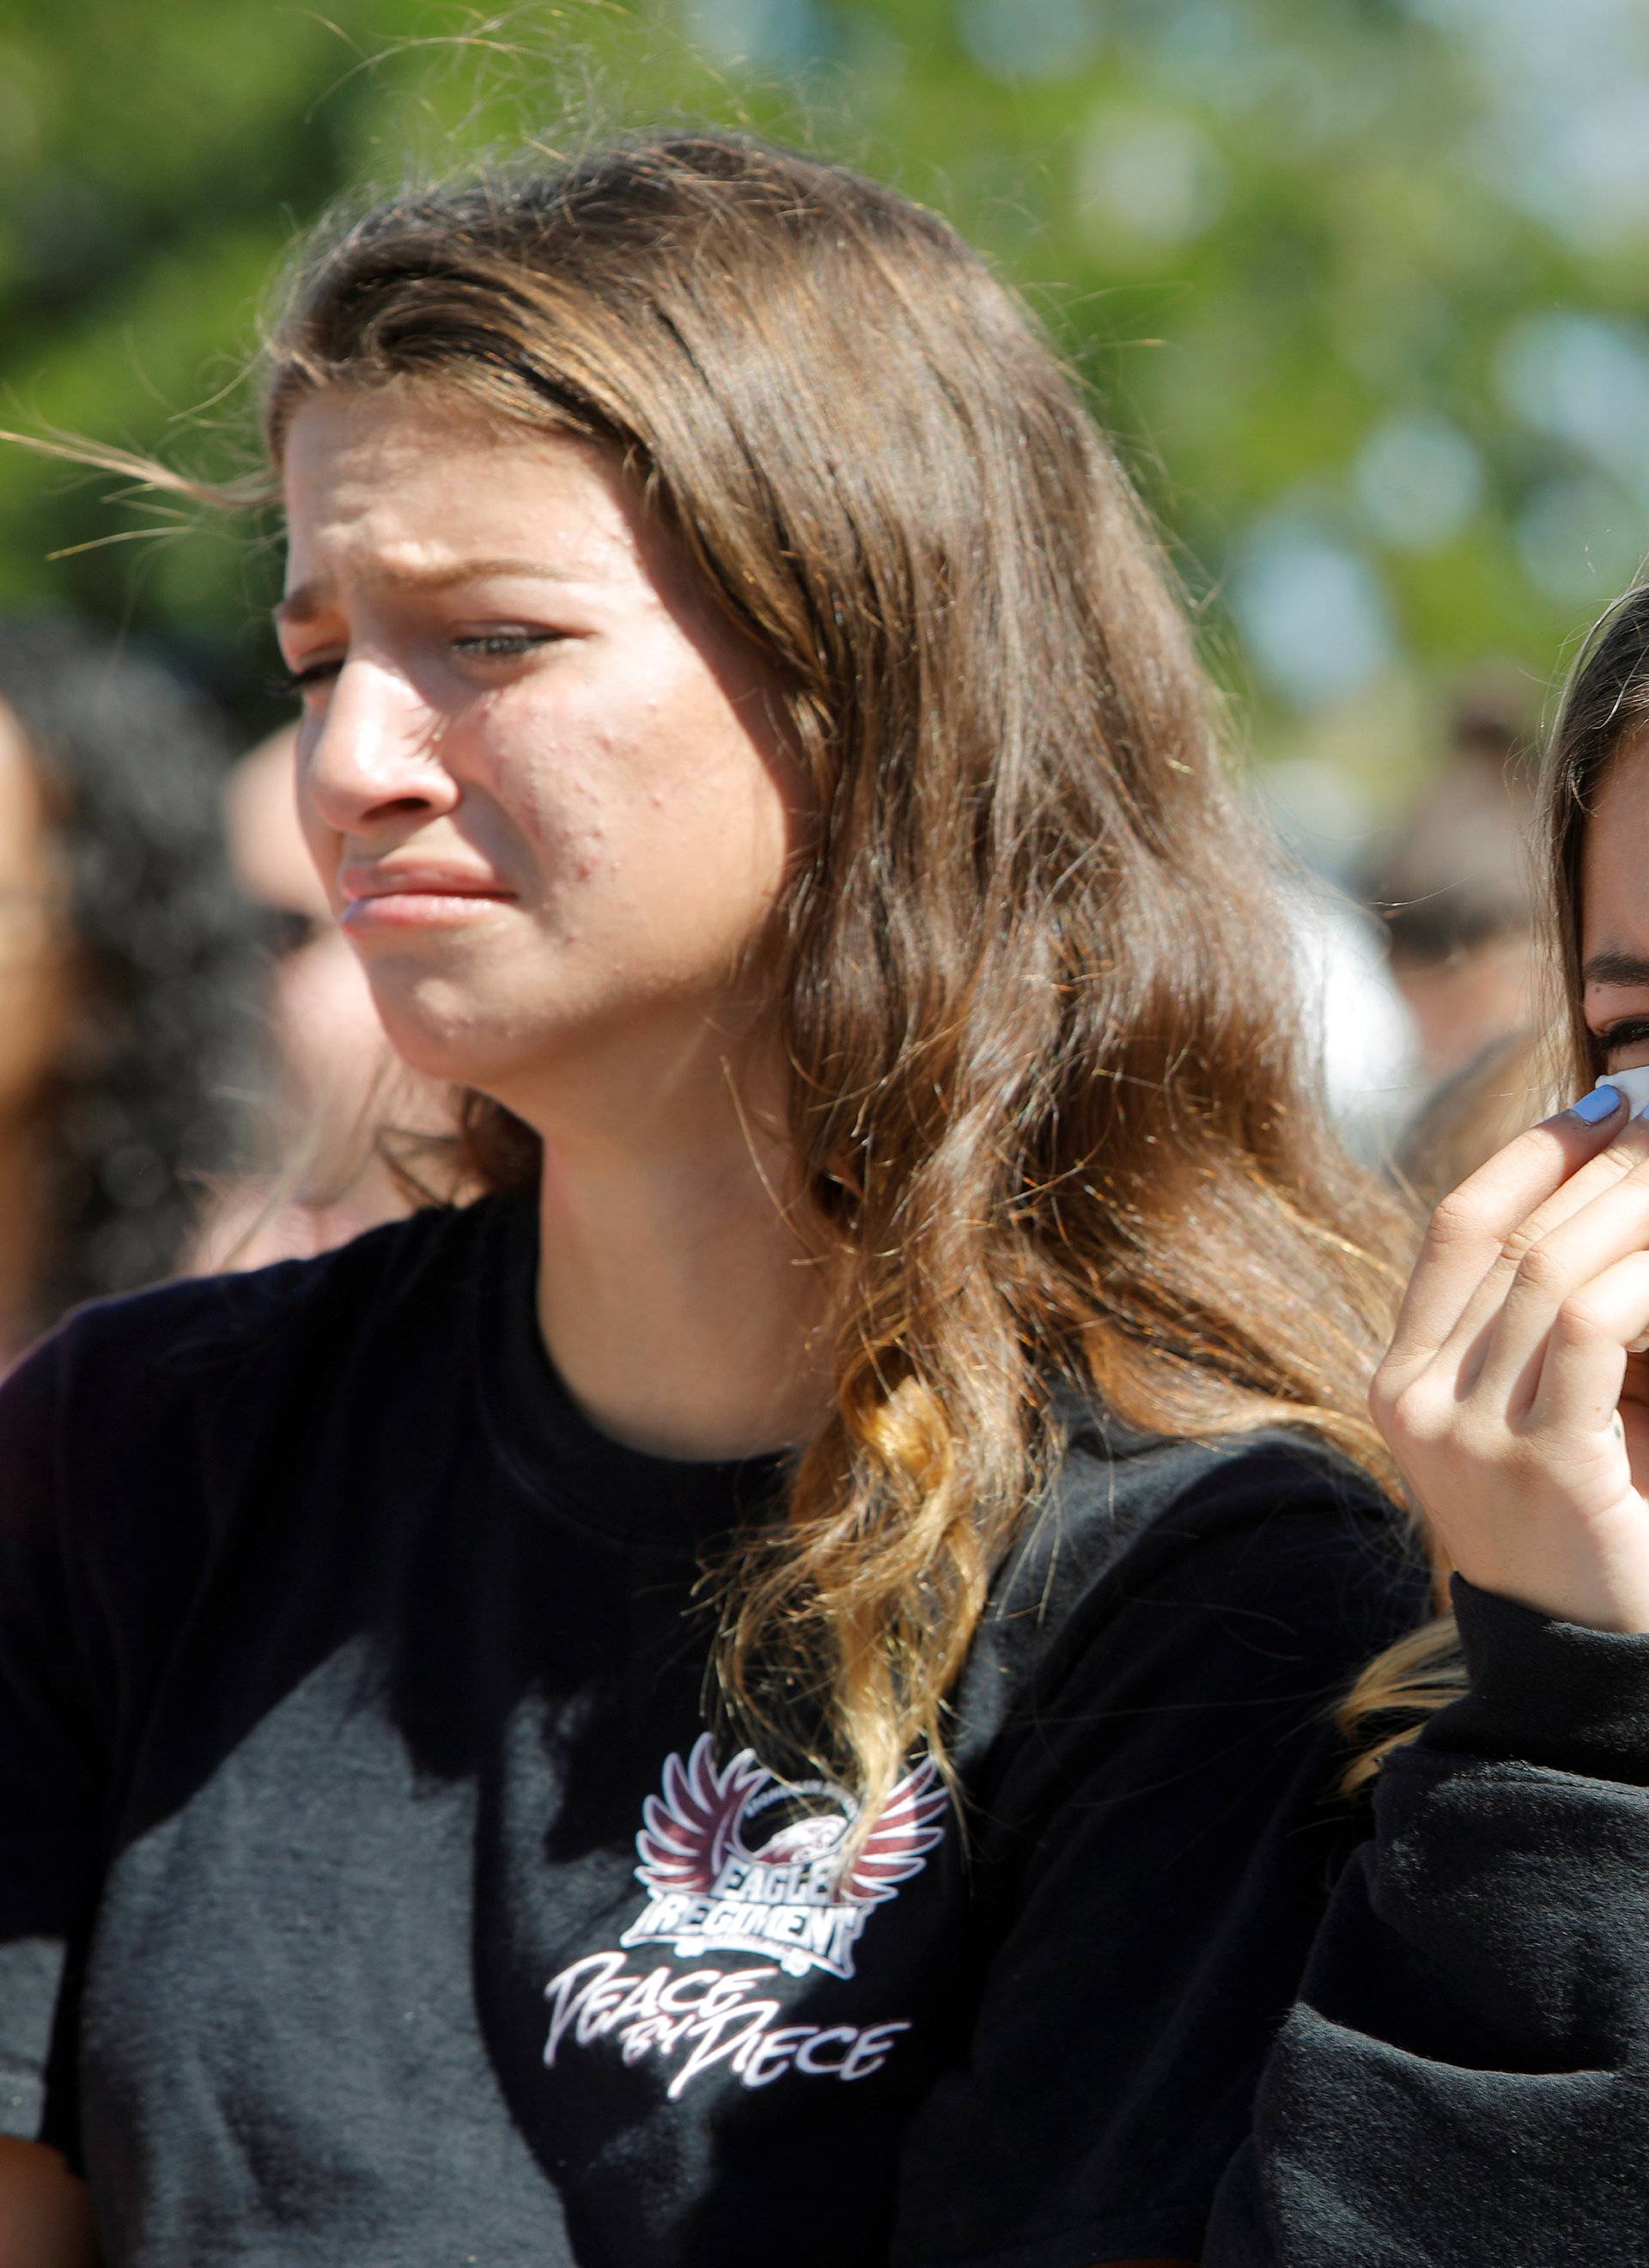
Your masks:
{"label": "left-hand short sleeve of the Eagle Regiment t-shirt, at photo's edge", "polygon": [[0,2134],[75,2159],[73,2000],[104,1769],[61,1522],[57,1352],[0,1386]]}

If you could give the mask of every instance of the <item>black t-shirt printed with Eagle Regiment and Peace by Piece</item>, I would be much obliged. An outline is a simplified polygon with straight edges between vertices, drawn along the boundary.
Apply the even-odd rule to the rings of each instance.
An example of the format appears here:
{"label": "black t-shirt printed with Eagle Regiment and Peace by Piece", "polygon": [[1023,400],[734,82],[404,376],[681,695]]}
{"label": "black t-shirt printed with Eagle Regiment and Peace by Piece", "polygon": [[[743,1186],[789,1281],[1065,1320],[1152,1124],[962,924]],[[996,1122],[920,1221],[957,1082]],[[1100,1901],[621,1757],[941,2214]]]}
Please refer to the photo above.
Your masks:
{"label": "black t-shirt printed with Eagle Regiment and Peace by Piece", "polygon": [[594,1433],[531,1207],[84,1311],[0,1393],[0,2130],[111,2268],[1195,2257],[1424,1615],[1286,1436],[1073,1413],[964,1817],[714,1746],[776,1461]]}

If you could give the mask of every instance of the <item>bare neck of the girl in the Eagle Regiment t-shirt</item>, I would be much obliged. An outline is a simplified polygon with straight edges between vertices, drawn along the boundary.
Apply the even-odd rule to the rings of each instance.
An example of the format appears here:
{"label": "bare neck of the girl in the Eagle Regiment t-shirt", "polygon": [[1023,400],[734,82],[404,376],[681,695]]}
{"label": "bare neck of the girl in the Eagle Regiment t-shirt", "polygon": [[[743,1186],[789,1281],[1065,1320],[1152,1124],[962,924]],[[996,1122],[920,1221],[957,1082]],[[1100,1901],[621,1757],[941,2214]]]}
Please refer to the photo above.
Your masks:
{"label": "bare neck of the girl in the Eagle Regiment t-shirt", "polygon": [[538,1320],[603,1433],[674,1458],[805,1440],[828,1406],[823,1245],[726,1089],[628,1141],[544,1136]]}

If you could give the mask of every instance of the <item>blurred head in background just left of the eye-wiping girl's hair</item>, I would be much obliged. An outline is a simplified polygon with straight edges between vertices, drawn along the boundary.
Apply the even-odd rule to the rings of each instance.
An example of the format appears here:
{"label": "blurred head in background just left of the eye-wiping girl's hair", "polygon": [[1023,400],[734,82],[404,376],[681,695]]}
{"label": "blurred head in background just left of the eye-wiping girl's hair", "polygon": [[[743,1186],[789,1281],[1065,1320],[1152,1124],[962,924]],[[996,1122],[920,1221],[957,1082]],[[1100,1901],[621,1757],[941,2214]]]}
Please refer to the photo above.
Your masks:
{"label": "blurred head in background just left of the eye-wiping girl's hair", "polygon": [[1513,694],[1483,687],[1463,699],[1440,771],[1368,882],[1429,1080],[1447,1080],[1533,1012],[1527,748]]}

